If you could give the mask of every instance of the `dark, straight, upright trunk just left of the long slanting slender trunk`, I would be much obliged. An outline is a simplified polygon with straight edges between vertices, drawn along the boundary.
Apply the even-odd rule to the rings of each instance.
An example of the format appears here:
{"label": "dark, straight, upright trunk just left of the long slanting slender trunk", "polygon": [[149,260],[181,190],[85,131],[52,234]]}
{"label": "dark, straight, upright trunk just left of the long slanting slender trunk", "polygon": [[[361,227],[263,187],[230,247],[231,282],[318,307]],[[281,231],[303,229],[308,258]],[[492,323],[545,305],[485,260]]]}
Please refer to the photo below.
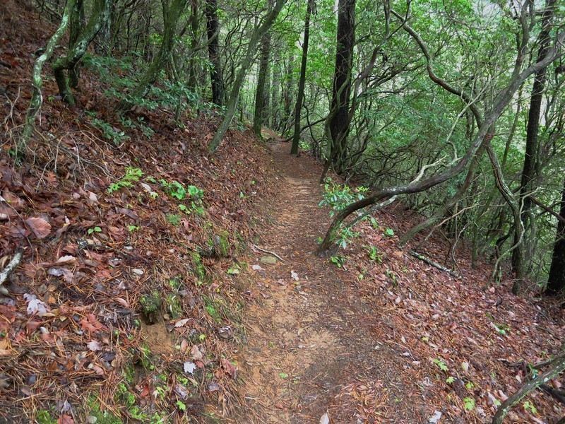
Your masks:
{"label": "dark, straight, upright trunk just left of the long slanting slender trunk", "polygon": [[217,0],[206,1],[206,33],[208,34],[208,59],[212,64],[210,80],[212,83],[212,102],[224,105],[224,77],[220,59],[220,19],[218,19]]}

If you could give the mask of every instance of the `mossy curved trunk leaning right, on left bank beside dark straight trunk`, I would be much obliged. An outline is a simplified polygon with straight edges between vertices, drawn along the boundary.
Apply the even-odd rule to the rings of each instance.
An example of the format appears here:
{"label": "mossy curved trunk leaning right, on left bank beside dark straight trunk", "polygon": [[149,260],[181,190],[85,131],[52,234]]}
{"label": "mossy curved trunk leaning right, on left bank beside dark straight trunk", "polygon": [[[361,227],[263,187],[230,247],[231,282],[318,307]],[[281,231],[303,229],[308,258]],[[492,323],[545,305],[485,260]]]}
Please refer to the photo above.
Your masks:
{"label": "mossy curved trunk leaning right, on left bank beside dark straight trunk", "polygon": [[145,74],[141,77],[141,81],[138,86],[131,90],[127,99],[121,100],[121,102],[118,103],[116,107],[117,112],[126,112],[126,110],[130,110],[138,99],[143,98],[148,93],[150,86],[159,78],[159,74],[169,61],[172,47],[174,45],[174,36],[177,33],[177,22],[179,21],[187,2],[188,0],[172,0],[169,6],[165,1],[163,1],[164,34],[159,52],[153,59],[148,70],[145,71]]}

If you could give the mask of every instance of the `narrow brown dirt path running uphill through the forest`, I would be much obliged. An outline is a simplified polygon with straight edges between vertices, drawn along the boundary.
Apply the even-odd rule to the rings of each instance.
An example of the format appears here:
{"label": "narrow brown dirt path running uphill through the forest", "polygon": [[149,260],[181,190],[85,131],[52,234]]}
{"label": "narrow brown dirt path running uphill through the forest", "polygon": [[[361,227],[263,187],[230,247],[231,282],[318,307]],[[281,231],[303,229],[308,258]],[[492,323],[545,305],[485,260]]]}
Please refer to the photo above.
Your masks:
{"label": "narrow brown dirt path running uphill through the forest", "polygon": [[[362,377],[382,387],[384,373],[387,388],[380,393],[388,390],[383,398],[389,400],[381,405],[394,412],[386,413],[383,422],[417,423],[412,402],[404,399],[409,394],[396,378],[402,368],[387,358],[398,353],[377,351],[374,334],[360,325],[374,311],[348,287],[355,271],[338,269],[313,254],[331,222],[328,210],[318,206],[321,166],[307,156],[289,155],[290,143],[270,146],[280,194],[269,225],[261,229],[259,246],[285,261],[262,264],[258,252],[250,264],[264,271],[251,271],[256,302],[244,322],[249,345],[240,359],[242,408],[234,422],[320,423],[325,413],[331,423],[374,422],[359,420],[359,405],[345,386]],[[392,401],[396,403],[386,405]]]}

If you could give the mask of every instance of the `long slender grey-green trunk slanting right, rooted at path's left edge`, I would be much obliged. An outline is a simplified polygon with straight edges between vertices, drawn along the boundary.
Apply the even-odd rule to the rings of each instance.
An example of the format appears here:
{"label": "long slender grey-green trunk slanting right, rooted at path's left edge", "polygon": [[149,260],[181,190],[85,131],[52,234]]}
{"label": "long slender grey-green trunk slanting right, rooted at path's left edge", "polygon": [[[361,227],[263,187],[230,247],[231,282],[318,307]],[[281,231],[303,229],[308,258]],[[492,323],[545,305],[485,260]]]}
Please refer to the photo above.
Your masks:
{"label": "long slender grey-green trunk slanting right, rooted at path's left edge", "polygon": [[247,70],[251,63],[253,62],[253,57],[255,54],[255,48],[261,37],[269,30],[271,25],[275,22],[278,14],[282,10],[283,6],[285,5],[286,0],[277,0],[275,7],[272,11],[267,13],[265,18],[263,19],[263,23],[259,25],[255,30],[253,35],[251,35],[251,40],[249,40],[249,45],[247,45],[247,52],[245,57],[242,61],[242,65],[239,67],[237,71],[237,76],[233,83],[232,91],[230,93],[230,99],[227,101],[226,105],[226,112],[225,117],[218,127],[218,131],[214,134],[214,138],[208,144],[208,149],[210,152],[215,151],[218,146],[220,146],[220,142],[225,136],[227,129],[230,128],[230,124],[235,114],[235,108],[237,107],[237,99],[239,98],[239,90],[242,89],[243,81],[247,74]]}

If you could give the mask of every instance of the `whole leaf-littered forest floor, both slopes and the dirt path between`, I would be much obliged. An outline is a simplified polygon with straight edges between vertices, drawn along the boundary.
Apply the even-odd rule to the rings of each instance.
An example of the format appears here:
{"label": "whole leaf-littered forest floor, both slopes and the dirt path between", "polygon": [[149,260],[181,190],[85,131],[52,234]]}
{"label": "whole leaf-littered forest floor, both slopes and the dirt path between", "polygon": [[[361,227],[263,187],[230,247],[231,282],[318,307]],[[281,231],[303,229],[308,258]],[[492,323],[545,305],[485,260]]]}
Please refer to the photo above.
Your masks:
{"label": "whole leaf-littered forest floor, both slopes and the dirt path between", "polygon": [[[16,166],[54,28],[0,2],[0,269],[23,251],[0,294],[0,423],[489,423],[562,351],[560,302],[535,283],[516,298],[509,273],[489,285],[492,263],[441,229],[401,246],[422,220],[403,204],[316,257],[331,222],[317,160],[242,123],[210,154],[209,105],[182,124],[167,107],[119,119],[101,64],[75,107],[45,69]],[[505,423],[564,415],[536,391]]]}

